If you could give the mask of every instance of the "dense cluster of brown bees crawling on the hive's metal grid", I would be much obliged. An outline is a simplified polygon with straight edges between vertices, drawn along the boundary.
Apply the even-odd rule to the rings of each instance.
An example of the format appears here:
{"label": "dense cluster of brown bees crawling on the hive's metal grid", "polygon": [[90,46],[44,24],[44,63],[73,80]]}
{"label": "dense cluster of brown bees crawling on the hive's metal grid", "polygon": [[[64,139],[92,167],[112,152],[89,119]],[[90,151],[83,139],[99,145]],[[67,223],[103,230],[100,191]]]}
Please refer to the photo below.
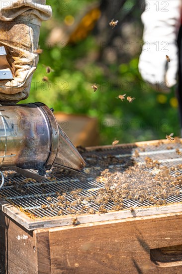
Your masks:
{"label": "dense cluster of brown bees crawling on the hive's metal grid", "polygon": [[[175,138],[175,142],[181,143],[181,140]],[[163,144],[166,147],[169,145],[168,143],[165,144],[165,142]],[[171,146],[173,146],[173,143]],[[138,156],[139,152],[143,151],[143,147],[145,146],[135,150],[135,156]],[[169,196],[180,195],[180,190],[176,186],[182,185],[182,175],[179,172],[182,169],[182,164],[167,168],[160,161],[146,156],[145,162],[151,170],[149,172],[145,171],[146,165],[138,165],[130,158],[127,158],[126,161],[122,158],[120,162],[120,159],[116,157],[117,154],[112,154],[114,150],[110,148],[110,151],[107,150],[105,154],[97,153],[97,150],[95,150],[88,154],[88,150],[83,148],[83,151],[87,153],[88,168],[90,168],[89,176],[95,178],[93,189],[86,190],[72,186],[65,190],[60,187],[57,189],[57,192],[51,194],[51,196],[55,195],[54,200],[56,201],[57,199],[56,202],[52,201],[53,196],[45,197],[43,195],[47,199],[47,202],[41,205],[42,211],[57,212],[58,216],[84,213],[99,214],[123,209],[129,209],[132,213],[137,203],[144,205],[147,201],[151,205],[165,205],[169,203]],[[181,149],[176,149],[176,153],[182,156]],[[140,154],[139,156],[141,156]],[[103,167],[98,168],[98,163],[103,160],[105,169]],[[109,165],[113,161],[116,161],[115,165],[112,165],[110,169]],[[119,165],[120,163],[121,165]],[[173,174],[170,174],[171,171],[173,171]],[[67,174],[67,170],[58,171],[57,169],[53,169],[52,171],[52,177],[55,180],[54,176],[59,177],[59,175],[62,176],[63,174]],[[175,177],[174,174],[176,175]],[[79,181],[83,177],[85,182],[88,179],[87,174],[77,174],[75,176]],[[25,183],[29,183],[29,180],[25,179]],[[31,190],[31,186],[28,187]],[[45,185],[41,184],[41,187],[45,187]],[[26,191],[26,185],[17,186],[14,184],[12,189],[21,193],[22,190]],[[94,194],[93,191],[95,192]],[[74,216],[72,221],[73,225],[78,224],[77,217]]]}

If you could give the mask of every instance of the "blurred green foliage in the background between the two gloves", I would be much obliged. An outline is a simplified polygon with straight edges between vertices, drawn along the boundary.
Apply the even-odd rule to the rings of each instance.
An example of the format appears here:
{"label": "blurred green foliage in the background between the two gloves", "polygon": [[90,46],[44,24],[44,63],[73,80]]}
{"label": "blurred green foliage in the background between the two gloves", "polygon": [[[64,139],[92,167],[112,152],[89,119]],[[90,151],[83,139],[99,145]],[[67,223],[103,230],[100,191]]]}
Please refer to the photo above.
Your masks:
{"label": "blurred green foliage in the background between the two gloves", "polygon": [[[39,57],[26,103],[40,101],[55,111],[97,117],[100,144],[111,144],[114,139],[120,143],[160,139],[172,132],[179,136],[174,89],[169,94],[160,94],[149,88],[138,72],[139,54],[125,63],[104,64],[102,60],[100,64],[91,58],[100,50],[93,33],[64,48],[59,43],[53,47],[46,43],[51,29],[58,24],[64,25],[66,15],[75,18],[81,12],[80,2],[51,1],[53,18],[41,27],[39,44],[44,52]],[[82,1],[85,6],[90,2],[93,1]],[[64,3],[69,3],[68,9]],[[54,72],[46,74],[45,66],[51,66]],[[43,76],[49,78],[48,83],[42,81]],[[98,85],[96,92],[91,89],[93,83]],[[136,100],[128,103],[126,99],[123,102],[116,99],[125,93]]]}

